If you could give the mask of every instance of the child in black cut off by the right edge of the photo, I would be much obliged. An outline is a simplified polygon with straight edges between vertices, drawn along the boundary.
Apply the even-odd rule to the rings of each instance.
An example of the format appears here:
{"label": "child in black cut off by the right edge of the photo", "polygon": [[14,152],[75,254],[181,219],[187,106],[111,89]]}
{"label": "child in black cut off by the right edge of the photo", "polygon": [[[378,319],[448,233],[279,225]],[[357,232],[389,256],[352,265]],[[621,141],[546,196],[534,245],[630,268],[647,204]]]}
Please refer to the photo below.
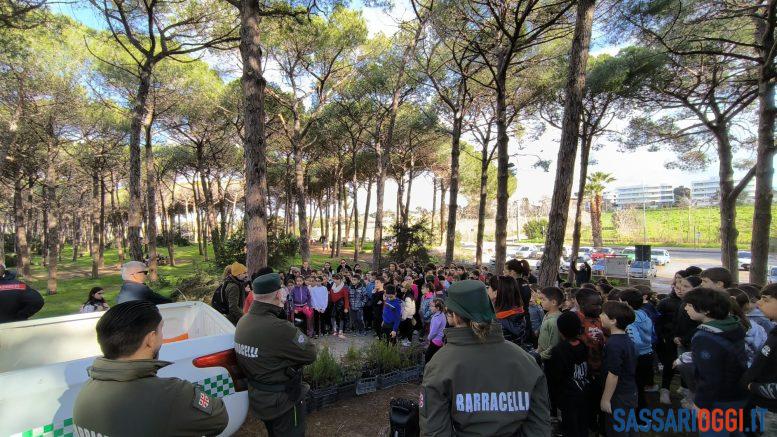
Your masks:
{"label": "child in black cut off by the right edge of the photo", "polygon": [[[777,321],[777,284],[767,285],[761,290],[758,308],[769,320]],[[765,417],[766,429],[777,429],[777,327],[769,331],[766,343],[741,382],[750,393],[752,404],[769,410]]]}

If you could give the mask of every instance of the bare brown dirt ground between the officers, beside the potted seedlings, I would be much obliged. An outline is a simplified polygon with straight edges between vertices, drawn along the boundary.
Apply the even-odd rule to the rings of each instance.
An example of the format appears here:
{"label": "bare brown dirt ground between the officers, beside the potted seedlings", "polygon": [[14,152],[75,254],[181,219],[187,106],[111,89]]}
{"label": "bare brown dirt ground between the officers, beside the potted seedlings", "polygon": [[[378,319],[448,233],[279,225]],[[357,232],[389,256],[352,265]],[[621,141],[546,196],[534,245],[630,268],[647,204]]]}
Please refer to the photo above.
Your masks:
{"label": "bare brown dirt ground between the officers, beside the potted seedlings", "polygon": [[[306,418],[306,434],[311,437],[375,437],[389,432],[389,402],[392,398],[418,399],[418,386],[402,384],[387,390],[357,396],[353,399],[315,411]],[[261,420],[248,411],[243,427],[235,436],[267,436]]]}

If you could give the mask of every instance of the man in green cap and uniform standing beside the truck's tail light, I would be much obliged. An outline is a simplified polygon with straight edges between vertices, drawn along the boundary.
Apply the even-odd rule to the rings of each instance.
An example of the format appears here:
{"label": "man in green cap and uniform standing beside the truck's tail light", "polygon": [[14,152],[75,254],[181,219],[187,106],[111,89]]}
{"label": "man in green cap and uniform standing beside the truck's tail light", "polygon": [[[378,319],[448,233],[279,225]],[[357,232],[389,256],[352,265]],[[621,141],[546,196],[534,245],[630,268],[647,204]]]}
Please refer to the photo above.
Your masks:
{"label": "man in green cap and uniform standing beside the truck's tail light", "polygon": [[251,409],[271,437],[303,436],[302,403],[310,387],[302,382],[302,367],[315,361],[315,345],[280,318],[288,291],[277,273],[254,279],[253,292],[254,303],[235,330],[237,363],[248,375]]}

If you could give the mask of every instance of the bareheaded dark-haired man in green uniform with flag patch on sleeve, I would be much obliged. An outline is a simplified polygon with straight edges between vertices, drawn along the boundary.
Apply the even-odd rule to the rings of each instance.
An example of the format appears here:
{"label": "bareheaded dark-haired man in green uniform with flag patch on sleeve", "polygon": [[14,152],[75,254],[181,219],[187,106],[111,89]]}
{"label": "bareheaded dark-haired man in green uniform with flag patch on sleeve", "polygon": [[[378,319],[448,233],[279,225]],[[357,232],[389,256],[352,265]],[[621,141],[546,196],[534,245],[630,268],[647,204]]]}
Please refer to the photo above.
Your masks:
{"label": "bareheaded dark-haired man in green uniform with flag patch on sleeve", "polygon": [[88,369],[73,406],[76,435],[201,436],[217,435],[229,417],[221,399],[178,378],[156,372],[172,363],[159,361],[162,315],[156,305],[136,300],[120,303],[97,322],[104,357]]}

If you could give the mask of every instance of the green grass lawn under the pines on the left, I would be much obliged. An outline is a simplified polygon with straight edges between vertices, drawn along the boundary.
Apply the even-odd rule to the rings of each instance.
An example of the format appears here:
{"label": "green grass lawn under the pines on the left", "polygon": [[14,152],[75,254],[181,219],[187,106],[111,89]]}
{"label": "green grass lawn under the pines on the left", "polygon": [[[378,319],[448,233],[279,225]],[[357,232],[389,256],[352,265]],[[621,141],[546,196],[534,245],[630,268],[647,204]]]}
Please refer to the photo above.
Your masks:
{"label": "green grass lawn under the pines on the left", "polygon": [[[86,300],[89,290],[94,286],[105,288],[106,299],[113,304],[116,296],[119,294],[122,280],[119,268],[119,256],[116,249],[106,250],[105,268],[100,271],[98,279],[92,279],[92,259],[89,255],[84,255],[76,261],[72,261],[72,247],[66,246],[62,251],[62,261],[57,267],[57,294],[46,295],[46,281],[48,269],[41,265],[40,257],[33,258],[32,278],[28,281],[30,286],[40,291],[45,299],[43,308],[33,318],[53,317],[66,314],[75,314]],[[336,267],[339,259],[329,258],[329,252],[324,253],[320,248],[312,248],[311,265],[319,268],[324,262],[332,262]],[[162,255],[167,255],[167,250],[160,251]],[[212,248],[209,249],[212,255]],[[369,254],[369,253],[368,253]],[[341,257],[349,260],[353,259],[353,249],[344,248],[341,250]],[[359,257],[362,265],[367,264],[371,256]],[[176,247],[175,249],[176,266],[159,266],[160,281],[149,284],[154,291],[162,295],[169,296],[175,290],[182,278],[194,274],[208,274],[211,276],[220,276],[219,269],[210,261],[205,261],[197,251],[196,245],[186,247]],[[302,259],[296,256],[287,261],[287,265],[301,265]]]}

